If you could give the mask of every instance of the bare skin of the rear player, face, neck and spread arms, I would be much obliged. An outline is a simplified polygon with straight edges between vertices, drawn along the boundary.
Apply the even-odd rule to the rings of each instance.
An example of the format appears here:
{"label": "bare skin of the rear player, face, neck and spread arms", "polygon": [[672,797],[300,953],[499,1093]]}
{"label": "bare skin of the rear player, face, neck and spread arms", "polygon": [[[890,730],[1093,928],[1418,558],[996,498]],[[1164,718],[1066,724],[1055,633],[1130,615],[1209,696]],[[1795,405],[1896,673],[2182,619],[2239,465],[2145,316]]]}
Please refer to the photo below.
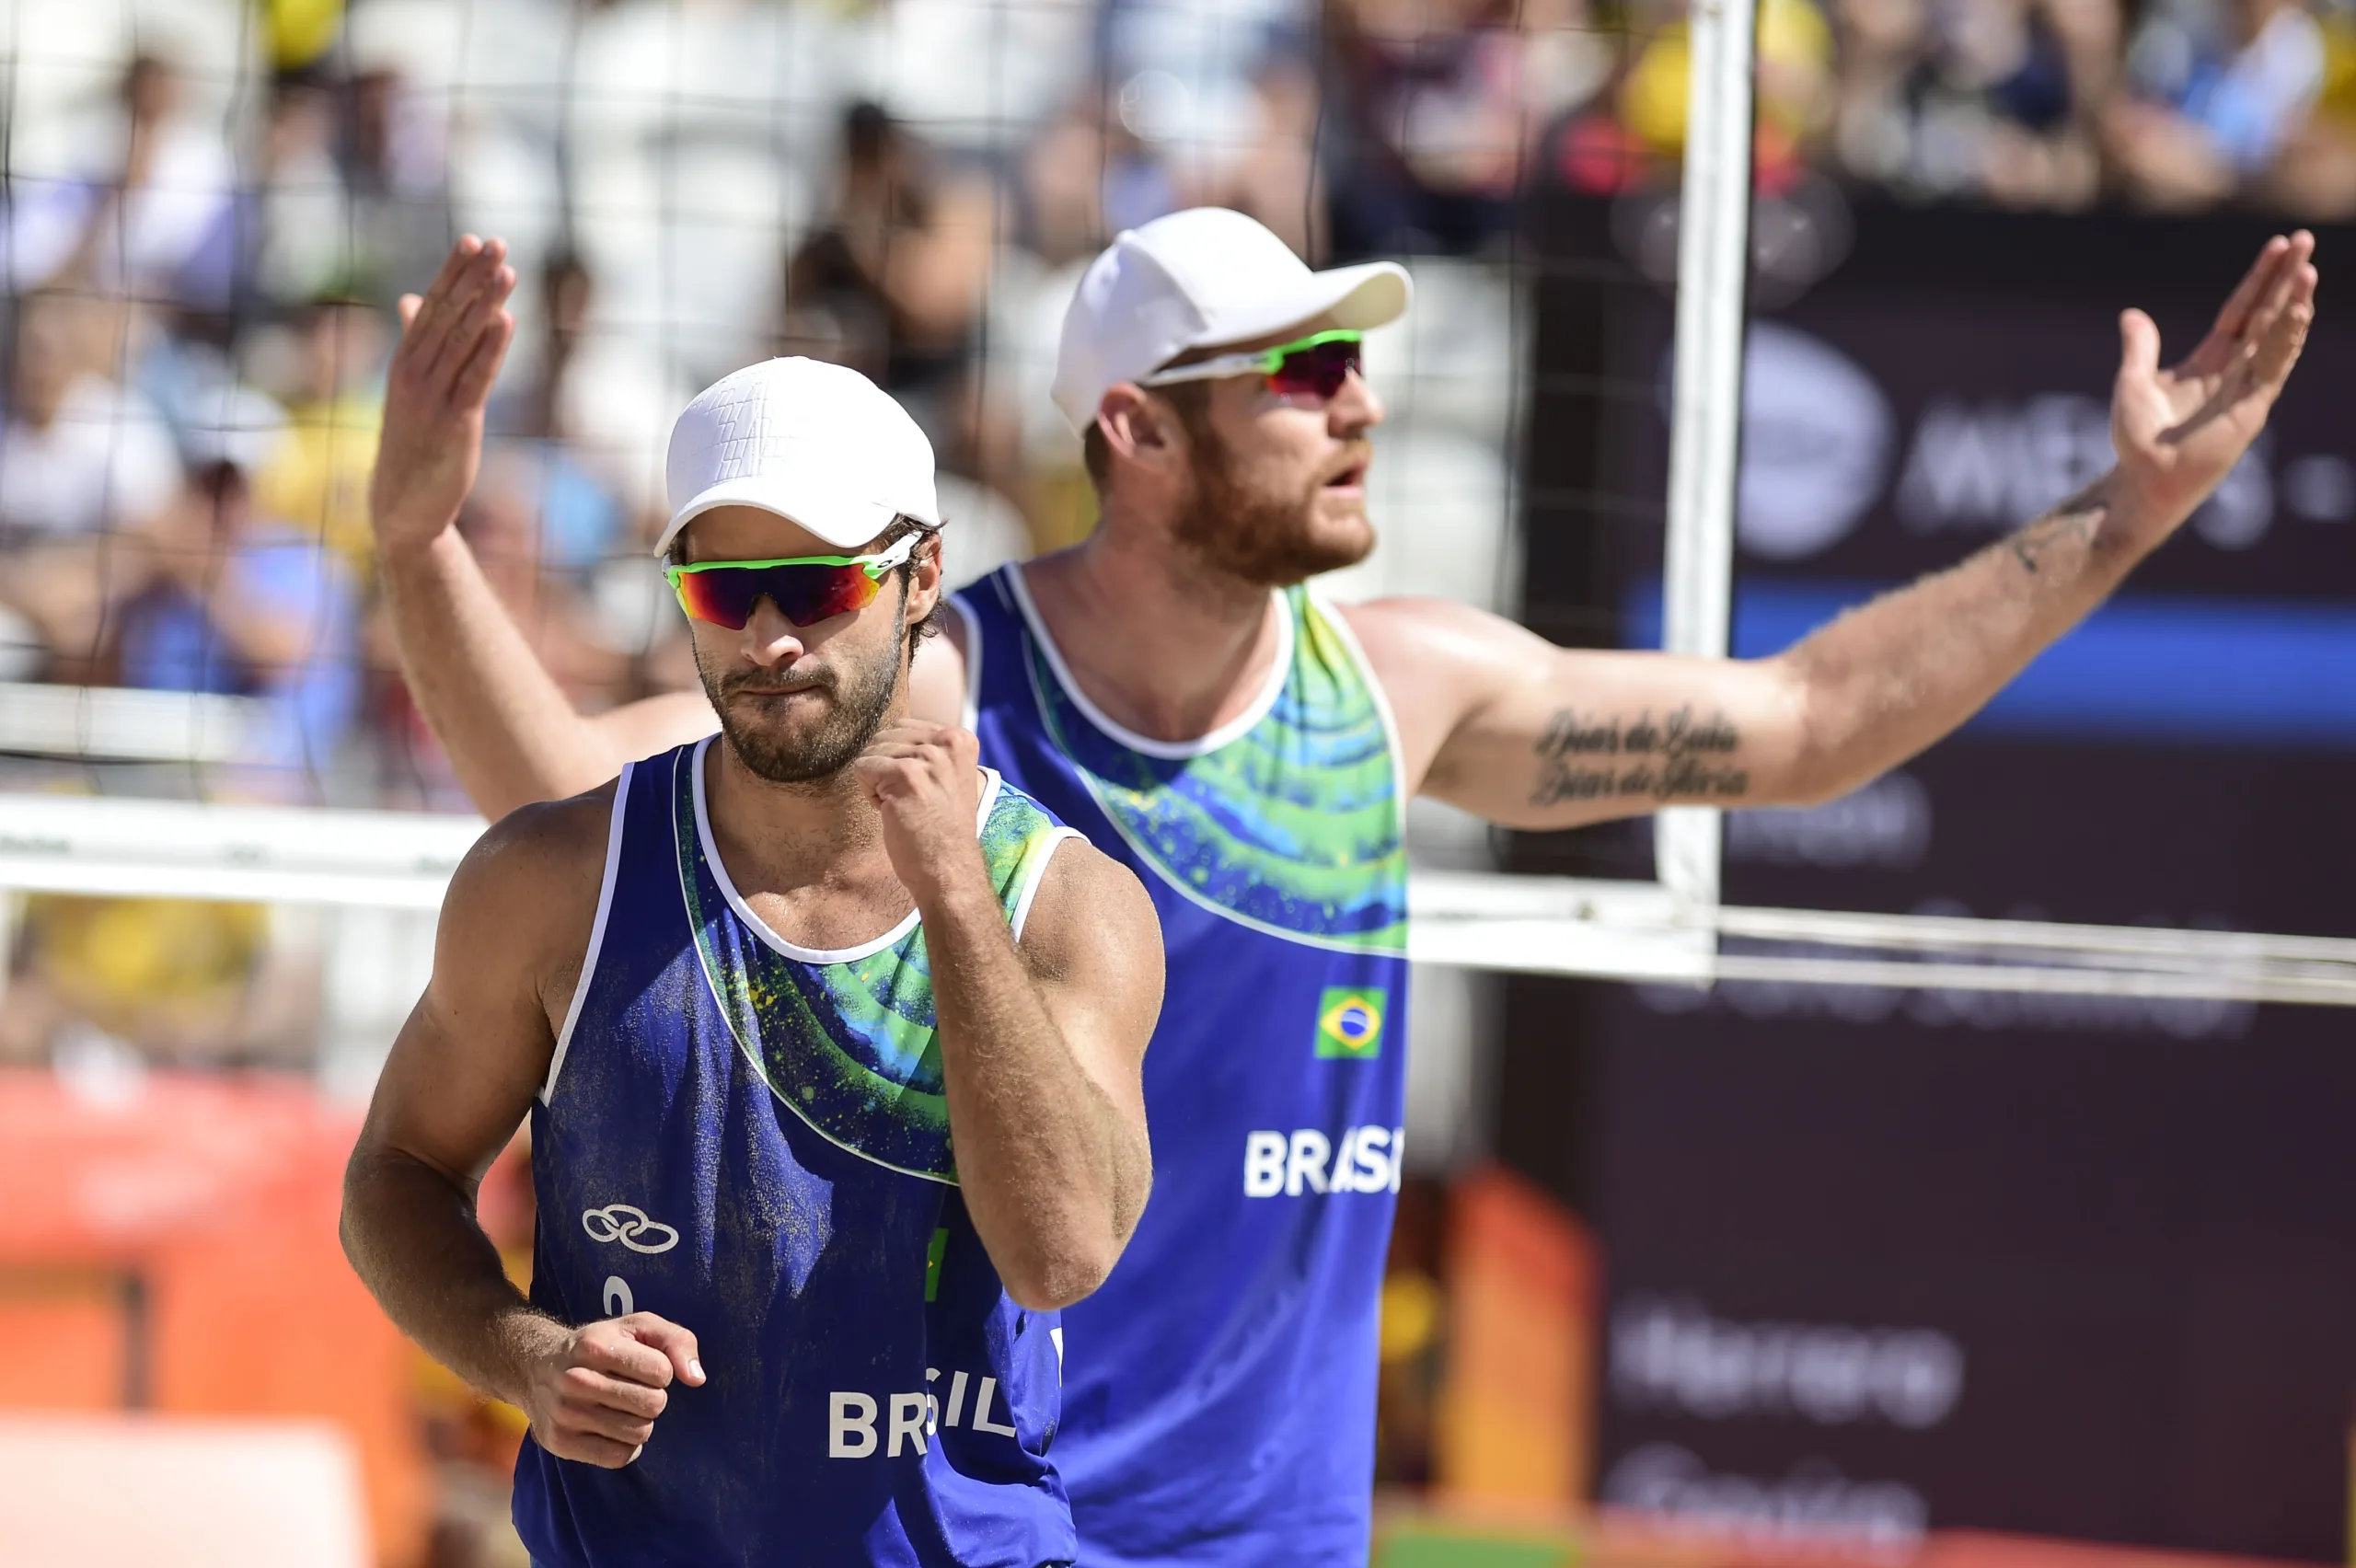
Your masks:
{"label": "bare skin of the rear player, face, neck and spread arms", "polygon": [[[495,242],[466,240],[436,283],[471,353],[504,346],[507,278]],[[1767,659],[1555,647],[1430,598],[1343,607],[1397,713],[1404,784],[1520,829],[1670,803],[1805,805],[1857,789],[1979,711],[2184,525],[2264,428],[2314,297],[2314,235],[2302,231],[2259,250],[2175,367],[2160,367],[2151,318],[2125,311],[2111,473],[2019,534]],[[462,440],[478,424],[469,391],[389,407],[386,440],[396,424]],[[1381,421],[1381,398],[1357,377],[1322,403],[1277,398],[1258,377],[1211,381],[1192,407],[1126,381],[1110,388],[1096,414],[1103,525],[1023,567],[1086,697],[1159,739],[1244,713],[1277,655],[1270,586],[1374,546],[1364,478]],[[474,589],[450,527],[457,499],[419,494],[382,511],[379,544],[419,704],[485,812],[587,789],[629,756],[712,730],[693,692],[575,716],[528,655],[509,652],[514,629]],[[1220,516],[1253,527],[1220,530]],[[961,711],[966,683],[964,626],[949,617],[947,631],[914,680],[916,711],[940,720]]]}

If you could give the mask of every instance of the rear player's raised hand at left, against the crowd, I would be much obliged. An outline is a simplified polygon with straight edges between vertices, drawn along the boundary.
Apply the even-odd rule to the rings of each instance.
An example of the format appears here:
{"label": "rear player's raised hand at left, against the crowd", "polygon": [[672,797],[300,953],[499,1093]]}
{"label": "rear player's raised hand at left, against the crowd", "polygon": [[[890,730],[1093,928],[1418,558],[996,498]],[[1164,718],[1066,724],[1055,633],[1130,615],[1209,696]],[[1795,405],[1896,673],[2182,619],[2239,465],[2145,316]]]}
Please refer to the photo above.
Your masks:
{"label": "rear player's raised hand at left, against the crowd", "polygon": [[401,346],[384,386],[384,433],[368,516],[386,556],[431,544],[483,466],[483,405],[516,337],[504,240],[464,235],[434,287],[401,297]]}

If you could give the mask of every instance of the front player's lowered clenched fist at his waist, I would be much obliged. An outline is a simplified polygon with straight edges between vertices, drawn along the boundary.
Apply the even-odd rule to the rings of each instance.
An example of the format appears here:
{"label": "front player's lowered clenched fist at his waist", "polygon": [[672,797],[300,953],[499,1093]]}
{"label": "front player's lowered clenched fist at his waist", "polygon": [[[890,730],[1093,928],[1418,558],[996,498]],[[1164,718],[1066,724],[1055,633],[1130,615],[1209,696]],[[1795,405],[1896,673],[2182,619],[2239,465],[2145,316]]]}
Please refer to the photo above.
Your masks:
{"label": "front player's lowered clenched fist at his waist", "polygon": [[558,1460],[598,1469],[622,1469],[638,1457],[655,1417],[671,1403],[674,1380],[690,1389],[704,1382],[695,1335],[653,1311],[582,1328],[549,1323],[523,1370],[532,1439]]}

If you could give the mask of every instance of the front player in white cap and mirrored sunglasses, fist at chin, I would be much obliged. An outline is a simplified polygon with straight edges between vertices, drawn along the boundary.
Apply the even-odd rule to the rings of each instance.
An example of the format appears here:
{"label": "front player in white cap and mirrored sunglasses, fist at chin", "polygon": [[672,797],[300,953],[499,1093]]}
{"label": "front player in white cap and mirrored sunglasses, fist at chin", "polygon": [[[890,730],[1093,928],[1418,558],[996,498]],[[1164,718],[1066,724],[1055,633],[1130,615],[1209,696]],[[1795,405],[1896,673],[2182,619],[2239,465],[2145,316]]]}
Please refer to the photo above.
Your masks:
{"label": "front player in white cap and mirrored sunglasses, fist at chin", "polygon": [[[488,388],[474,332],[450,339],[466,311],[415,308],[405,419]],[[452,473],[391,445],[379,523],[455,509]],[[940,513],[898,403],[749,365],[681,414],[669,473],[721,735],[466,855],[344,1245],[403,1330],[530,1415],[540,1568],[1070,1563],[1055,1314],[1152,1180],[1152,904],[971,732],[907,716]],[[528,1297],[474,1217],[525,1116]]]}

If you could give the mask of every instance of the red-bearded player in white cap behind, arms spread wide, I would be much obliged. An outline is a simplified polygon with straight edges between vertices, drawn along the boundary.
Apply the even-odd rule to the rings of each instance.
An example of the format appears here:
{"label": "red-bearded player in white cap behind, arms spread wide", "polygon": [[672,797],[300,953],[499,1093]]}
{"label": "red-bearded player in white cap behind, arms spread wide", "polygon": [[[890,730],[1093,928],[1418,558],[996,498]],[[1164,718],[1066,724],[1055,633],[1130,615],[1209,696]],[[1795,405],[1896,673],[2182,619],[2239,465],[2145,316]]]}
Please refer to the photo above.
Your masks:
{"label": "red-bearded player in white cap behind, arms spread wide", "polygon": [[[1553,647],[1440,600],[1324,603],[1310,579],[1374,546],[1383,403],[1357,348],[1407,308],[1407,275],[1312,273],[1218,210],[1096,259],[1053,391],[1103,523],[954,596],[914,692],[1138,871],[1162,916],[1154,1201],[1065,1314],[1055,1460],[1086,1561],[1366,1561],[1407,798],[1569,829],[1824,800],[1930,746],[2248,450],[2304,344],[2311,252],[2271,240],[2175,370],[2127,311],[2109,476],[1772,659]],[[426,713],[488,812],[712,725],[695,697],[575,718],[462,546],[384,549]]]}

